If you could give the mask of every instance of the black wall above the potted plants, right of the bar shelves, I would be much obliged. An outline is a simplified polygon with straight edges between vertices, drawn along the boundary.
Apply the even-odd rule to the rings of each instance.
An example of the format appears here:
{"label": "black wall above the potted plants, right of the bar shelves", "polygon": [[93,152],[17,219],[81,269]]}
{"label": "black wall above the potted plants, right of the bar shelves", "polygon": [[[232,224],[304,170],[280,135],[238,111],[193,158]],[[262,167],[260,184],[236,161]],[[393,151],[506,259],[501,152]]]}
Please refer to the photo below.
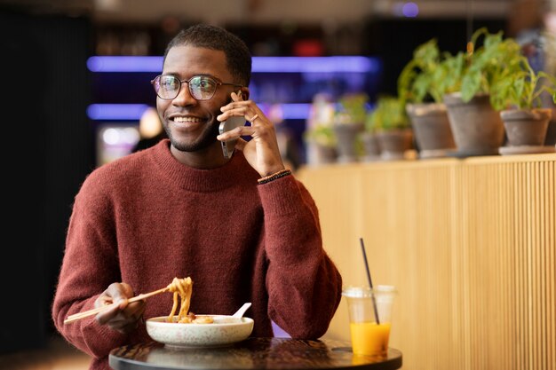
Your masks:
{"label": "black wall above the potted plants, right of the bar shelves", "polygon": [[[413,57],[421,43],[436,38],[441,51],[456,54],[465,51],[468,41],[465,19],[369,19],[365,26],[363,54],[377,56],[383,61],[380,91],[395,95],[401,70]],[[490,33],[506,28],[505,19],[475,19],[474,30],[486,27]],[[505,36],[505,35],[504,35]]]}

